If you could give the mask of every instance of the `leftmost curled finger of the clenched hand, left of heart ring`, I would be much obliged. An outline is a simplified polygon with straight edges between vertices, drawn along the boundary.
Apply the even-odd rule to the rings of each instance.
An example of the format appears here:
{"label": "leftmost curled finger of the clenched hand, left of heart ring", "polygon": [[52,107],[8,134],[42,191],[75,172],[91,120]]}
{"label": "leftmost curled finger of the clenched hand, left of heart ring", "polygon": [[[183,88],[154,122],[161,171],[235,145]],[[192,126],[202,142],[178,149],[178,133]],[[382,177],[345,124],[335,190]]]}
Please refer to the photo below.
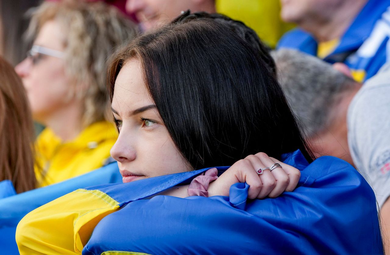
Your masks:
{"label": "leftmost curled finger of the clenched hand, left of heart ring", "polygon": [[248,162],[251,164],[251,167],[242,169],[242,174],[244,175],[243,177],[246,183],[249,185],[248,198],[255,199],[262,189],[262,182],[256,172],[257,169],[259,169],[259,164],[261,164],[261,161],[254,155],[247,156],[245,160],[248,160]]}

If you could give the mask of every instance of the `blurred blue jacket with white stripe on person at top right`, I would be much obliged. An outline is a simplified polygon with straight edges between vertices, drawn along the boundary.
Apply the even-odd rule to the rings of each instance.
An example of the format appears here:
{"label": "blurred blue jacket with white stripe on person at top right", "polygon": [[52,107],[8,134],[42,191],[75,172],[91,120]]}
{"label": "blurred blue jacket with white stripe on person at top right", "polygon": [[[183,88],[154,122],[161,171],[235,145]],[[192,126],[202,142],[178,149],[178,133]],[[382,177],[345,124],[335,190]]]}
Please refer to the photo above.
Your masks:
{"label": "blurred blue jacket with white stripe on person at top right", "polygon": [[[331,64],[344,62],[352,72],[362,72],[364,81],[374,76],[388,60],[390,0],[369,0],[355,21],[340,38],[335,50],[324,58]],[[317,55],[317,42],[309,33],[296,28],[287,32],[277,48],[292,48]]]}

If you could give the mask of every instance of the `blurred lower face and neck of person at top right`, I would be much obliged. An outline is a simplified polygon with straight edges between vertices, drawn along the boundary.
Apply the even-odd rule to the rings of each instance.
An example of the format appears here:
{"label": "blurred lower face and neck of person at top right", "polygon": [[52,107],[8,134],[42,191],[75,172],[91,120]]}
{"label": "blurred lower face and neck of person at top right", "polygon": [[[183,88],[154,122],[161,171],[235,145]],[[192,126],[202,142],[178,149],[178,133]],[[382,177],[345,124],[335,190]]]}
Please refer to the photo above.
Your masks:
{"label": "blurred lower face and neck of person at top right", "polygon": [[280,16],[298,24],[319,42],[339,38],[367,0],[280,0]]}

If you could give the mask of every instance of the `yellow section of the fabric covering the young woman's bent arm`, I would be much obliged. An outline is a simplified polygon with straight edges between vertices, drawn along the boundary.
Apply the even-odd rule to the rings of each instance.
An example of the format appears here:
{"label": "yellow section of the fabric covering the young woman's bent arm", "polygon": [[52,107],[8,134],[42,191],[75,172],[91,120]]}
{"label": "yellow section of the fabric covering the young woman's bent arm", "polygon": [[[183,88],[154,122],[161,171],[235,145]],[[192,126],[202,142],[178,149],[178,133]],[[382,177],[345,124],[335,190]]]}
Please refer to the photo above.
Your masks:
{"label": "yellow section of the fabric covering the young woman's bent arm", "polygon": [[[119,203],[100,190],[77,189],[35,209],[19,222],[19,252],[81,254],[97,223],[118,209]],[[68,238],[71,236],[73,239]]]}

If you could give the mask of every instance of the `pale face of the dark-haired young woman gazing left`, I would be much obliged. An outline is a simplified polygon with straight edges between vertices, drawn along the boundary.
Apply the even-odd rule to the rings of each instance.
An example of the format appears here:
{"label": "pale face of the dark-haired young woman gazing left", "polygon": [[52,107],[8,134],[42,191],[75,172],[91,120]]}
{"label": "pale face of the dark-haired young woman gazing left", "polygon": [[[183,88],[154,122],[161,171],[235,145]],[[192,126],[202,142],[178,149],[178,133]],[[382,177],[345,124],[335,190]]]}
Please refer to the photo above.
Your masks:
{"label": "pale face of the dark-haired young woman gazing left", "polygon": [[115,82],[112,111],[119,129],[111,156],[123,182],[190,171],[149,96],[138,60],[127,62]]}

